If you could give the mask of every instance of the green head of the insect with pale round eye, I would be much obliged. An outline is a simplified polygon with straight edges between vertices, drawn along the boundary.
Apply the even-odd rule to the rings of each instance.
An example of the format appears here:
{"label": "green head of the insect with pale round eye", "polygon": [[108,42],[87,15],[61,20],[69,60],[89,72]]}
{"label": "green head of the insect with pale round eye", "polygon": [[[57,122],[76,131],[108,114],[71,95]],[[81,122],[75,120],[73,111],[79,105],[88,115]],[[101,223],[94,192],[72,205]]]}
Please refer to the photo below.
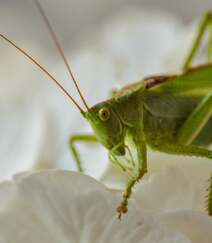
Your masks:
{"label": "green head of the insect with pale round eye", "polygon": [[110,104],[99,103],[85,112],[84,116],[104,147],[117,155],[125,154],[123,124]]}

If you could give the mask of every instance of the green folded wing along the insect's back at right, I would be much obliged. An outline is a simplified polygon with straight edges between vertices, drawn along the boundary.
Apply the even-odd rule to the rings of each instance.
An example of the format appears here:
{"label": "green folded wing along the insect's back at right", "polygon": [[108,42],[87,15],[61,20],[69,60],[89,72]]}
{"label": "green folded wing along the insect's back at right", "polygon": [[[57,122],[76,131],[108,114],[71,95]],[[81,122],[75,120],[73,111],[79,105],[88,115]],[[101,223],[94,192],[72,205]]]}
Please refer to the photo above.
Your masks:
{"label": "green folded wing along the insect's back at right", "polygon": [[199,66],[149,88],[145,106],[155,116],[186,117],[212,90],[212,64]]}

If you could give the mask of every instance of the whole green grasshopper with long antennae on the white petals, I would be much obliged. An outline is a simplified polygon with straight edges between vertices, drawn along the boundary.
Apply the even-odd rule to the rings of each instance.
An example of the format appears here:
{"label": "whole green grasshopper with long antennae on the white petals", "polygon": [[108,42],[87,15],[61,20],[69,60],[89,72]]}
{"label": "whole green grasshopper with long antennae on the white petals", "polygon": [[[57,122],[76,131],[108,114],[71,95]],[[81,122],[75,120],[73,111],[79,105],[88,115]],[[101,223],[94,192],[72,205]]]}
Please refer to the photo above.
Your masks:
{"label": "whole green grasshopper with long antennae on the white petals", "polygon": [[[70,137],[70,150],[79,171],[83,171],[76,142],[99,142],[109,153],[111,162],[123,171],[136,168],[126,185],[123,200],[117,207],[119,217],[128,211],[128,201],[134,185],[147,173],[147,148],[183,156],[212,159],[212,12],[207,12],[188,52],[181,71],[174,75],[151,76],[125,86],[113,96],[92,107],[86,103],[72,70],[38,0],[37,8],[67,67],[84,110],[67,90],[32,56],[8,39],[0,37],[15,47],[38,66],[70,98],[82,116],[90,123],[94,135],[79,134]],[[208,32],[208,63],[191,67],[205,33]],[[130,139],[137,151],[137,166],[126,141]],[[120,157],[130,154],[126,163]],[[125,161],[126,162],[126,161]],[[207,210],[212,215],[212,176],[208,189]]]}

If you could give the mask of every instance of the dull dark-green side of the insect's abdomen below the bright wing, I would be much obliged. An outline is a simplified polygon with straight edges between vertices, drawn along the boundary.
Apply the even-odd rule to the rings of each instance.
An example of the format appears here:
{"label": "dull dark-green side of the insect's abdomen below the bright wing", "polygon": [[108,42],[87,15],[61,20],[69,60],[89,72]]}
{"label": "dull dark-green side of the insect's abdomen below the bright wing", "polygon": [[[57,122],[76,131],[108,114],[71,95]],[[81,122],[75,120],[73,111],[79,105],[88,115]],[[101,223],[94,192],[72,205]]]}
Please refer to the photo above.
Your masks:
{"label": "dull dark-green side of the insect's abdomen below the bright wing", "polygon": [[[147,142],[158,145],[176,143],[180,127],[199,104],[200,98],[151,96],[144,107],[144,133]],[[212,144],[212,118],[192,142],[199,146]]]}

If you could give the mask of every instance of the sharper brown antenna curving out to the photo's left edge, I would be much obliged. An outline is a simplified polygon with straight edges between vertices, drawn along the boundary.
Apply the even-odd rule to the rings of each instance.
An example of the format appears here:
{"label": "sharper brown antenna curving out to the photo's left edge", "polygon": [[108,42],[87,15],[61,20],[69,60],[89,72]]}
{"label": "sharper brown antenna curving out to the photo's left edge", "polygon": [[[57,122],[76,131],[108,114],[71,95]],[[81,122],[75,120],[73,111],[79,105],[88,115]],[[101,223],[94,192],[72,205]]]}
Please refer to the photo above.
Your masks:
{"label": "sharper brown antenna curving out to the photo's left edge", "polygon": [[6,36],[0,34],[0,37],[7,41],[10,45],[15,47],[19,52],[21,52],[25,57],[30,59],[37,67],[39,67],[54,83],[71,99],[71,101],[76,105],[76,107],[80,110],[80,112],[85,113],[83,109],[77,104],[74,98],[68,93],[68,91],[44,68],[38,61],[36,61],[32,56],[30,56],[27,52],[17,46],[14,42],[9,40]]}

